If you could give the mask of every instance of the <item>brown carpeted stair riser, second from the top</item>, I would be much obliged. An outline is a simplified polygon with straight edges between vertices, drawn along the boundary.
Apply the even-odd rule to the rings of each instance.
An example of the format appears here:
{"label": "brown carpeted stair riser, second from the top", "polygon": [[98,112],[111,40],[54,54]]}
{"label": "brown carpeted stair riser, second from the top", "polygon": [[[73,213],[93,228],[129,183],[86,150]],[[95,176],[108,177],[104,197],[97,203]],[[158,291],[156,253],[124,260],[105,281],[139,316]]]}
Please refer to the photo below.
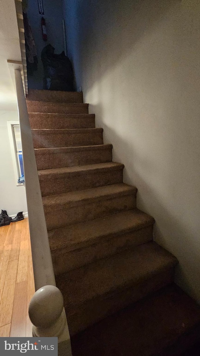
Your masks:
{"label": "brown carpeted stair riser, second from the top", "polygon": [[52,103],[47,101],[26,102],[28,112],[49,114],[88,114],[88,104]]}

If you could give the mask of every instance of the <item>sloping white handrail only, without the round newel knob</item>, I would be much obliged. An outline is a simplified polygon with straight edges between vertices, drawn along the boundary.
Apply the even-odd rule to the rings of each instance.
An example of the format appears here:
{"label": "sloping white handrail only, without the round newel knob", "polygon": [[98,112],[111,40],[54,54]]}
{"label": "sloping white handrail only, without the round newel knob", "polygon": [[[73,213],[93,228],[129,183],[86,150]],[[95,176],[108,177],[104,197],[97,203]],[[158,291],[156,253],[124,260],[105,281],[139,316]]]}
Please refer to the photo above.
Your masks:
{"label": "sloping white handrail only, without the round newel knob", "polygon": [[34,282],[37,290],[46,285],[55,286],[55,276],[39,186],[31,126],[29,124],[21,72],[18,69],[15,69],[15,83],[22,139]]}

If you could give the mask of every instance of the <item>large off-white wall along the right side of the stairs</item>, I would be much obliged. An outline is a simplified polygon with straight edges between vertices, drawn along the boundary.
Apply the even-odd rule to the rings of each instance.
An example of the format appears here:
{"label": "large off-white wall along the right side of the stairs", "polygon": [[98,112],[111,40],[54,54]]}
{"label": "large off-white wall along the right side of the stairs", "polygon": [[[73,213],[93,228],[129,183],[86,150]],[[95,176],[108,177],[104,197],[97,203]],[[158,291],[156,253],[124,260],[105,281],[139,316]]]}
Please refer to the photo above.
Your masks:
{"label": "large off-white wall along the right side of the stairs", "polygon": [[200,2],[64,0],[77,87],[200,302]]}

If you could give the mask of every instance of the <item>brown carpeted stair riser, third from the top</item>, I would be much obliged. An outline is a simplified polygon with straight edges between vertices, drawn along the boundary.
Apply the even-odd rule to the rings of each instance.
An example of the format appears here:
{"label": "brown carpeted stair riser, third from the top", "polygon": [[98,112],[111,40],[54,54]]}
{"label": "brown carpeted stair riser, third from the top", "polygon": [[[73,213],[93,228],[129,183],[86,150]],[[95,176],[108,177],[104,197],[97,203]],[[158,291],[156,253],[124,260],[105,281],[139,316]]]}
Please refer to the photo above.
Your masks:
{"label": "brown carpeted stair riser, third from the top", "polygon": [[94,129],[93,114],[43,114],[29,113],[32,129]]}

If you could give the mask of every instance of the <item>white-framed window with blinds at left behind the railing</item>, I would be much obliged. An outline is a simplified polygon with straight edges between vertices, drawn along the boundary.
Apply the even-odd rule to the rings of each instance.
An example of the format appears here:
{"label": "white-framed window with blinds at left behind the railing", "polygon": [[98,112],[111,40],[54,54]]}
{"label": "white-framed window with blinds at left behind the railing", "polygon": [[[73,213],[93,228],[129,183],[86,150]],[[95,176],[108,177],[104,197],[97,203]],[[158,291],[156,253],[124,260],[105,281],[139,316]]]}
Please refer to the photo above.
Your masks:
{"label": "white-framed window with blinds at left behind the railing", "polygon": [[19,177],[24,175],[20,124],[19,121],[7,121],[7,126],[16,185],[22,185],[22,183],[18,182]]}

